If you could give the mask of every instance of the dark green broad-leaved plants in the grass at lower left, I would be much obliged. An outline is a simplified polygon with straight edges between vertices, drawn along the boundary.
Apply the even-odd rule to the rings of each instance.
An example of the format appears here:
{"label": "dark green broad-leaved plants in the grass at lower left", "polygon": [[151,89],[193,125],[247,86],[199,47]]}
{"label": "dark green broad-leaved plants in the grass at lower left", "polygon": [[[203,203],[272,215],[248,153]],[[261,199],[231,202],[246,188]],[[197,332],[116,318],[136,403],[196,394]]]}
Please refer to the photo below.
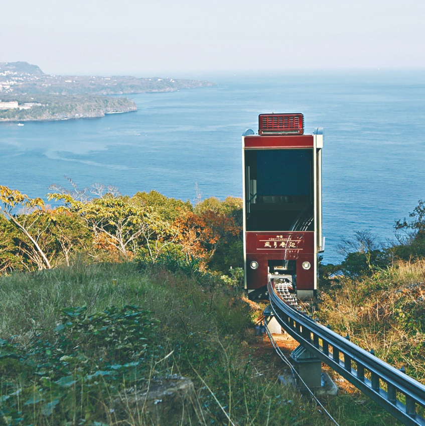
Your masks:
{"label": "dark green broad-leaved plants in the grass at lower left", "polygon": [[107,421],[110,392],[149,377],[158,355],[152,312],[134,305],[62,312],[53,340],[35,334],[24,348],[0,339],[0,416],[6,424],[57,424],[58,417],[71,424]]}

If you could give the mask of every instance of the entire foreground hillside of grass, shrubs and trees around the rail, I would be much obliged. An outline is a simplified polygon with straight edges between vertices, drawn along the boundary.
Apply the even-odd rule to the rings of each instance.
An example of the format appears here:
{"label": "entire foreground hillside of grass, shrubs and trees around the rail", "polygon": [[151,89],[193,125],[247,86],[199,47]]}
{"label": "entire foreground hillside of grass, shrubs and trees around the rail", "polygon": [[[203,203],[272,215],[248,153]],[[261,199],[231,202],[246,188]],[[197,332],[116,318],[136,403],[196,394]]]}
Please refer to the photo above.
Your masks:
{"label": "entire foreground hillside of grass, shrubs and trees around the rail", "polygon": [[[253,334],[241,199],[69,182],[53,207],[0,186],[0,424],[334,424]],[[425,202],[394,227],[386,245],[347,237],[306,308],[425,383]],[[193,399],[158,422],[134,395],[173,374]],[[322,402],[340,424],[398,424],[349,386]]]}

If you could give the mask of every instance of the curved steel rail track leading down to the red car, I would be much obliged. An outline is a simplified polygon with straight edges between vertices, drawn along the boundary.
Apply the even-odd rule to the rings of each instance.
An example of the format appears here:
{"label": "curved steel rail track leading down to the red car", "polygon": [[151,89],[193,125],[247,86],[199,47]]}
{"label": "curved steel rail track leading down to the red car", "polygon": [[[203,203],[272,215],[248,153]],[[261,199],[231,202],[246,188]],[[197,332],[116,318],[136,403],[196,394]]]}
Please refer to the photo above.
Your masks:
{"label": "curved steel rail track leading down to the red car", "polygon": [[[267,284],[277,322],[305,347],[350,383],[407,426],[425,426],[416,412],[425,408],[425,386],[314,321],[282,299],[275,284]],[[353,366],[355,363],[355,367]],[[386,384],[386,390],[381,387]]]}

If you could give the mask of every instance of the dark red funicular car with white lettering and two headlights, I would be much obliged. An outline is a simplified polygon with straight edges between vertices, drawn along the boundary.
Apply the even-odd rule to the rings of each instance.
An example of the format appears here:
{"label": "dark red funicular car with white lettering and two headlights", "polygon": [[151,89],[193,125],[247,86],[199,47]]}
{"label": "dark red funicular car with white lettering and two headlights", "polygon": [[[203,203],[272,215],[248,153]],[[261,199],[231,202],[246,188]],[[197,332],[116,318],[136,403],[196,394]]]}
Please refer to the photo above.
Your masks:
{"label": "dark red funicular car with white lettering and two headlights", "polygon": [[267,298],[271,279],[300,299],[317,290],[322,238],[322,129],[304,134],[302,114],[261,114],[242,135],[245,289]]}

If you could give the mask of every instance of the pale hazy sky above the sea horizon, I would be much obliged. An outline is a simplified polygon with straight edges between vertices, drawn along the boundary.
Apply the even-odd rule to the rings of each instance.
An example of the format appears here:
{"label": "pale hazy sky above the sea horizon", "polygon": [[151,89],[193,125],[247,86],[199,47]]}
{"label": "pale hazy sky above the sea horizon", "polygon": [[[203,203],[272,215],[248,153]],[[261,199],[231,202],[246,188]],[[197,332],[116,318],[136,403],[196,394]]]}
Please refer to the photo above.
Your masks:
{"label": "pale hazy sky above the sea horizon", "polygon": [[425,0],[0,0],[0,62],[50,74],[425,67]]}

